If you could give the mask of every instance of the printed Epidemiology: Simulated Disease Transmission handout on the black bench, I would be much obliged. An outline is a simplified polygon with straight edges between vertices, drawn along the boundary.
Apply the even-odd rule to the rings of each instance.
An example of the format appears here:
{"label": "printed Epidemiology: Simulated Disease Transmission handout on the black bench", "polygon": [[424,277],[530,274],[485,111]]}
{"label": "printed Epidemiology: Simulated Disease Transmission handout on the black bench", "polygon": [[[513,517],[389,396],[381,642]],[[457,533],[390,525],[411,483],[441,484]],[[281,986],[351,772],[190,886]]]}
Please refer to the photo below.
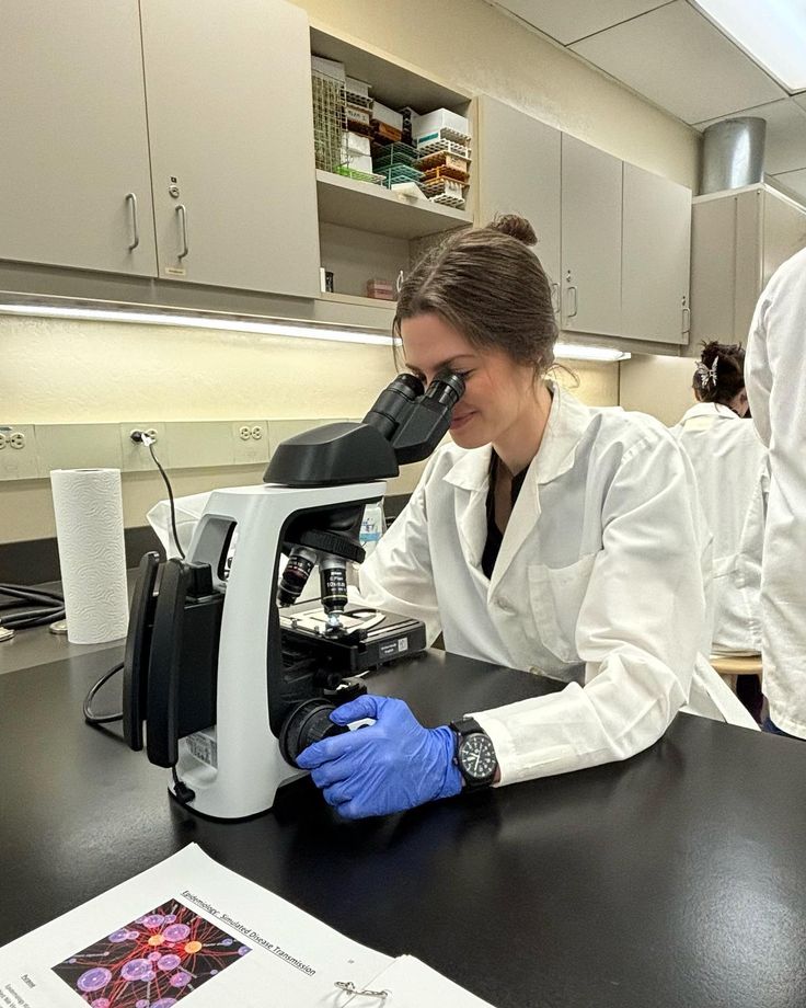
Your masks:
{"label": "printed Epidemiology: Simulated Disease Transmission handout on the black bench", "polygon": [[486,1005],[416,959],[345,938],[194,844],[0,949],[2,1008],[424,1008],[437,999]]}

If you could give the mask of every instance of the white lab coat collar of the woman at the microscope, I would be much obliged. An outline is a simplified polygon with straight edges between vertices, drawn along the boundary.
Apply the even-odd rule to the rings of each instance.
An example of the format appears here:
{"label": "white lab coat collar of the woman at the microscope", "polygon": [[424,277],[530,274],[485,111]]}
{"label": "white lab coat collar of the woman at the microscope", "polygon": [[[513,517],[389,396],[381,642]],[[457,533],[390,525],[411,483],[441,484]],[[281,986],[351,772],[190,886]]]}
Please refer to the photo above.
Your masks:
{"label": "white lab coat collar of the woman at the microscope", "polygon": [[[577,445],[594,419],[591,410],[584,406],[556,382],[550,381],[549,386],[553,397],[549,422],[545,425],[538,454],[529,463],[523,490],[531,483],[550,483],[571,469],[574,465]],[[492,445],[468,449],[445,474],[445,481],[462,490],[486,490],[492,454]]]}

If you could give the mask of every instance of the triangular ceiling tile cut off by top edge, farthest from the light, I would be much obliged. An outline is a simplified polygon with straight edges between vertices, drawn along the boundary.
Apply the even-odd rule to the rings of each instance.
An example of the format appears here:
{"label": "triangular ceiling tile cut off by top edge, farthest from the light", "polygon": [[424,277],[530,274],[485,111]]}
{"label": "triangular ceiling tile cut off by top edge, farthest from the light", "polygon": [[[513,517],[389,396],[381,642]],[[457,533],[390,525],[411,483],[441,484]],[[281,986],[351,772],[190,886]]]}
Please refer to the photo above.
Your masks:
{"label": "triangular ceiling tile cut off by top edge, farthest from the light", "polygon": [[668,0],[499,0],[499,5],[522,18],[563,45],[645,14]]}

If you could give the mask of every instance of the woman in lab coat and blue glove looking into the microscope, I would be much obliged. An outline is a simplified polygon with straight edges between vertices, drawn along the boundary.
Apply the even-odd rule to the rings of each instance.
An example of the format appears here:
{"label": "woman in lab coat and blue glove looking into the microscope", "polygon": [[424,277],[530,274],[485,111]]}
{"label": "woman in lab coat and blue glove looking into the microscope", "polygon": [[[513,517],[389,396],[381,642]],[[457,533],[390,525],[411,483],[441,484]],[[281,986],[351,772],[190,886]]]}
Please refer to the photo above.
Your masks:
{"label": "woman in lab coat and blue glove looking into the microscope", "polygon": [[376,723],[298,761],[348,818],[624,759],[689,700],[752,725],[699,654],[690,463],[660,423],[585,406],[546,378],[557,329],[534,240],[506,217],[449,239],[406,278],[394,325],[408,368],[429,382],[447,367],[467,390],[453,444],[429,460],[360,587],[423,620],[429,642],[441,631],[448,651],[567,686],[470,721],[458,710],[437,729],[401,700],[338,708],[338,723]]}

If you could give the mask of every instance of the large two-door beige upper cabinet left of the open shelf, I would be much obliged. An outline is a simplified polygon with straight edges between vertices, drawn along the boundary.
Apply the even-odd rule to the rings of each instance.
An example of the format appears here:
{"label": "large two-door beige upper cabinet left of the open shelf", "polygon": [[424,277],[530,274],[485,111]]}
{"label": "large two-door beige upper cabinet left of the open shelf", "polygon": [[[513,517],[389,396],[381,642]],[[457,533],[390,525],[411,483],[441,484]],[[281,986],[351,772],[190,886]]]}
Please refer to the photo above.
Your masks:
{"label": "large two-door beige upper cabinet left of the open shelf", "polygon": [[0,259],[315,297],[309,51],[279,0],[8,0]]}

